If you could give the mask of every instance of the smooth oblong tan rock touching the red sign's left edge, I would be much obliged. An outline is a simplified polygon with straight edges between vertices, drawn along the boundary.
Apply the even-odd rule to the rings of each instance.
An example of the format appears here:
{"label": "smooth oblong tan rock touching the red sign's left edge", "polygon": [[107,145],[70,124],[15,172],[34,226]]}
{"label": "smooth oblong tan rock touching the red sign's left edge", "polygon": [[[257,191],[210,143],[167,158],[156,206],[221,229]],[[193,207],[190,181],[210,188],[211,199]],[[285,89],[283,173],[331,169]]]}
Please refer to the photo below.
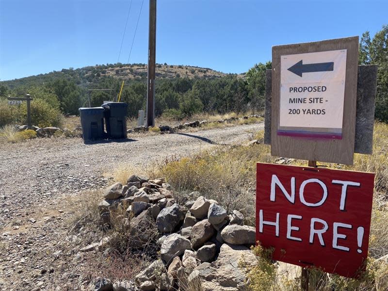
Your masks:
{"label": "smooth oblong tan rock touching the red sign's left edge", "polygon": [[221,237],[231,244],[255,244],[256,229],[253,226],[228,225],[221,231]]}

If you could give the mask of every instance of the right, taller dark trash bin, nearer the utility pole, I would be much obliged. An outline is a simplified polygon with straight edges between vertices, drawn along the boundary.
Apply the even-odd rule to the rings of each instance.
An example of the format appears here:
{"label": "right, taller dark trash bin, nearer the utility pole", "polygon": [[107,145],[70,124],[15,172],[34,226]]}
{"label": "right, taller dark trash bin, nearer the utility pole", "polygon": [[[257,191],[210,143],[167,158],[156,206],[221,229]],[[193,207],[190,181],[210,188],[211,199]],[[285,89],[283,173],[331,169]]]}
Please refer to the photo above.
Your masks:
{"label": "right, taller dark trash bin, nearer the utility pole", "polygon": [[109,102],[101,105],[105,108],[104,117],[109,138],[127,137],[127,108],[123,102]]}

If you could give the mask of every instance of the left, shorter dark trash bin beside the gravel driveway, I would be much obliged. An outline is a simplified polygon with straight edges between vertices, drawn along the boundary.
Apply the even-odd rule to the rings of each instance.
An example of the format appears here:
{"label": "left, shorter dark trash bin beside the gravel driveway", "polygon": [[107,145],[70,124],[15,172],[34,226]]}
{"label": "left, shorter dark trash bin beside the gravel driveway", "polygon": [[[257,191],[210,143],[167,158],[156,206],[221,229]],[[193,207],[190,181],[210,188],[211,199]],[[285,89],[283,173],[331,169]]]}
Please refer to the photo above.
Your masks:
{"label": "left, shorter dark trash bin beside the gravel driveway", "polygon": [[83,141],[103,139],[104,132],[104,108],[80,108]]}

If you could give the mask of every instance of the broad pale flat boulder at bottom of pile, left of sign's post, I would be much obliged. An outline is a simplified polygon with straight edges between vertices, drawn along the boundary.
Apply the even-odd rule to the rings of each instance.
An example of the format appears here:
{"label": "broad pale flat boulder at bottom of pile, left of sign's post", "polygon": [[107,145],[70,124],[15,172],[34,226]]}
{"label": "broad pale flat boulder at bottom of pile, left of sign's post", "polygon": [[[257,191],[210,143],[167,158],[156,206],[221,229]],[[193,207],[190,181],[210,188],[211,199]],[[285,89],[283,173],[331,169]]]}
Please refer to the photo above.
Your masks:
{"label": "broad pale flat boulder at bottom of pile, left of sign's post", "polygon": [[[245,274],[238,266],[239,261],[248,266],[257,263],[256,256],[247,247],[224,243],[217,260],[210,265],[201,264],[204,267],[198,266],[193,273],[197,273],[203,291],[245,291]],[[195,277],[193,273],[189,277]]]}

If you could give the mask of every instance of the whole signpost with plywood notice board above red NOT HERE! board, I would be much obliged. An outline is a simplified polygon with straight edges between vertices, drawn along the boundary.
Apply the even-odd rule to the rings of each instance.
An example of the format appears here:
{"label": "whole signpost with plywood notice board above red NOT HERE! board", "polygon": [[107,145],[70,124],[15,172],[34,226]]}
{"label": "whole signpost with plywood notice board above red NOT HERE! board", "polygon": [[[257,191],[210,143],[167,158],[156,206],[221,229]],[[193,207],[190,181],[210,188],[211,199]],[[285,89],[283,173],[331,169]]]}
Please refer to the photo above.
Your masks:
{"label": "whole signpost with plywood notice board above red NOT HERE! board", "polygon": [[265,143],[308,167],[258,163],[257,241],[302,267],[306,291],[309,267],[365,270],[374,174],[317,165],[372,154],[377,68],[357,64],[358,37],[348,37],[275,46],[266,73]]}

